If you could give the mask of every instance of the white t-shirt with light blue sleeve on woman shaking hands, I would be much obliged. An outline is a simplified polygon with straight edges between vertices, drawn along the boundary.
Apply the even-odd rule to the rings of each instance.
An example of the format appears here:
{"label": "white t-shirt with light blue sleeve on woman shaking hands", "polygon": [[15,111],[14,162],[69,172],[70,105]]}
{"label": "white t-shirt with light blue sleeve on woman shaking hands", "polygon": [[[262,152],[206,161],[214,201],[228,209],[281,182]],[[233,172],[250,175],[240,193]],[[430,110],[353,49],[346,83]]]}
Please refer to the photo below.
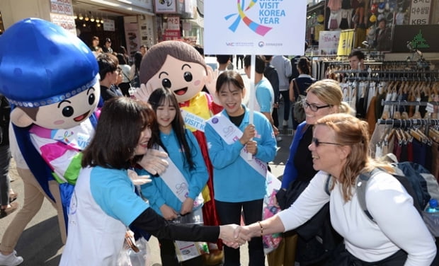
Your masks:
{"label": "white t-shirt with light blue sleeve on woman shaking hands", "polygon": [[148,207],[135,194],[127,170],[82,168],[59,265],[116,265],[127,226]]}

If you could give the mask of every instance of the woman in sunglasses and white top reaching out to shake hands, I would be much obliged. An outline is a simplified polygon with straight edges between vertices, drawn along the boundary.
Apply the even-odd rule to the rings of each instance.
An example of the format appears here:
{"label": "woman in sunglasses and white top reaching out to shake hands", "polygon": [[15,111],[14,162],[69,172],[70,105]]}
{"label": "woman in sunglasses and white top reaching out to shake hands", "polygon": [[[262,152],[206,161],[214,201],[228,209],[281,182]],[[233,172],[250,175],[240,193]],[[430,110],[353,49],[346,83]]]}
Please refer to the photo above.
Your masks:
{"label": "woman in sunglasses and white top reaching out to shake hands", "polygon": [[[326,265],[432,265],[434,238],[414,207],[414,199],[389,174],[392,166],[370,157],[367,122],[348,114],[326,115],[314,122],[309,150],[317,175],[291,207],[244,226],[247,236],[296,229],[329,202],[331,224],[343,236],[343,243]],[[371,174],[363,188],[373,220],[359,203],[362,173]]]}

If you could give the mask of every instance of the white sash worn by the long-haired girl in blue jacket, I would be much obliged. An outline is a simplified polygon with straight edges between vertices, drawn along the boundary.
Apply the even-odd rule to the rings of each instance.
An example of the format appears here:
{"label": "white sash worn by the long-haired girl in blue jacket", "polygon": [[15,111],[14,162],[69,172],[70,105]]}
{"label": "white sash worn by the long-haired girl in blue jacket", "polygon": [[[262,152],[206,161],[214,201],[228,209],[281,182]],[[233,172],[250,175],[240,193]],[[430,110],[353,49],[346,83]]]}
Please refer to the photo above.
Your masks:
{"label": "white sash worn by the long-haired girl in blue jacket", "polygon": [[[164,151],[164,149],[159,146],[159,151]],[[169,164],[168,168],[166,168],[164,173],[160,174],[160,177],[173,192],[173,195],[183,203],[189,193],[188,182],[173,161],[171,161],[171,158],[166,158],[166,161]],[[203,196],[200,193],[200,195],[193,200],[193,209],[198,209],[203,206],[203,202]]]}

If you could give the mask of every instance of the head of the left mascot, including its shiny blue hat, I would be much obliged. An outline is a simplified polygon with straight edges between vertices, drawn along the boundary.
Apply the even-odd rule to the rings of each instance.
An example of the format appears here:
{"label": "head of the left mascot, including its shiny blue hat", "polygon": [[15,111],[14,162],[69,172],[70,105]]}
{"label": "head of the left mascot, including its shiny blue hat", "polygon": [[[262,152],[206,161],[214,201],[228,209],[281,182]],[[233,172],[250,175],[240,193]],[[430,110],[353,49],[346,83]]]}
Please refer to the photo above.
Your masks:
{"label": "head of the left mascot, including its shiny blue hat", "polygon": [[18,127],[84,122],[101,96],[98,72],[89,47],[59,25],[26,18],[1,35],[0,93],[14,106],[11,122]]}

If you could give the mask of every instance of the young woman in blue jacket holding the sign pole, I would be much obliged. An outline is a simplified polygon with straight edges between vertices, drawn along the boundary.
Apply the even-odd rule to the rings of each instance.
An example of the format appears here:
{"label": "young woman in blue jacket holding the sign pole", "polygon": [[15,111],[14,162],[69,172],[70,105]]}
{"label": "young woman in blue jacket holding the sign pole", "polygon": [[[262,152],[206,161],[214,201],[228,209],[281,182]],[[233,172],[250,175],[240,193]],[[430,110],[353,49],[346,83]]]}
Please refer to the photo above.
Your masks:
{"label": "young woman in blue jacket holding the sign pole", "polygon": [[[267,164],[276,154],[273,128],[261,112],[242,104],[245,88],[241,75],[224,71],[217,79],[216,93],[224,110],[207,120],[205,135],[214,167],[215,204],[222,224],[262,219],[266,194]],[[264,265],[262,238],[249,242],[249,265]],[[239,250],[224,247],[224,266],[239,265]]]}

